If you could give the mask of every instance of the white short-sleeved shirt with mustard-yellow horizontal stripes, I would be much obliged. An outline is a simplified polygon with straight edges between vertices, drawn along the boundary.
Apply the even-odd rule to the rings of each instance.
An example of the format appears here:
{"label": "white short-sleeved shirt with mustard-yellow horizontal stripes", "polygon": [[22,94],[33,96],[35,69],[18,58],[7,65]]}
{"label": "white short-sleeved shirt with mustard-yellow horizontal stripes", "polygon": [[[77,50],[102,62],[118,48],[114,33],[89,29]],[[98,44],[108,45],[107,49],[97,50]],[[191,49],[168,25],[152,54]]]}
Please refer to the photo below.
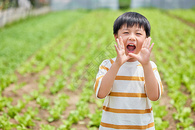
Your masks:
{"label": "white short-sleeved shirt with mustard-yellow horizontal stripes", "polygon": [[[96,97],[102,77],[110,69],[115,59],[104,60],[100,65],[94,85]],[[152,61],[150,63],[158,81],[161,96],[163,86],[157,66]],[[152,106],[145,91],[144,72],[138,61],[126,62],[120,67],[113,87],[104,100],[99,129],[155,129]]]}

